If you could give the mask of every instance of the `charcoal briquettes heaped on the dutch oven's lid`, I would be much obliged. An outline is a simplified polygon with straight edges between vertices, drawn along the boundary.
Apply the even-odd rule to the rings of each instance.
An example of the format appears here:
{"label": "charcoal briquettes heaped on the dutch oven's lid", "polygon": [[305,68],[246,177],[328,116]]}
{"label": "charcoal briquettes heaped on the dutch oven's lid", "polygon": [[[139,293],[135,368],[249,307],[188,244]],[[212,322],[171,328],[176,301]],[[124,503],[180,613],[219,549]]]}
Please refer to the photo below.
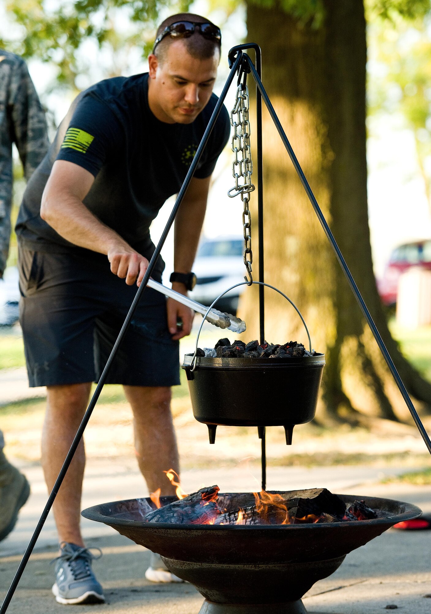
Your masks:
{"label": "charcoal briquettes heaped on the dutch oven's lid", "polygon": [[244,341],[228,340],[227,337],[219,339],[215,348],[198,348],[197,356],[206,358],[303,358],[305,356],[318,356],[314,350],[309,352],[304,344],[298,341],[288,341],[283,345],[274,343],[259,344],[257,340],[244,343]]}

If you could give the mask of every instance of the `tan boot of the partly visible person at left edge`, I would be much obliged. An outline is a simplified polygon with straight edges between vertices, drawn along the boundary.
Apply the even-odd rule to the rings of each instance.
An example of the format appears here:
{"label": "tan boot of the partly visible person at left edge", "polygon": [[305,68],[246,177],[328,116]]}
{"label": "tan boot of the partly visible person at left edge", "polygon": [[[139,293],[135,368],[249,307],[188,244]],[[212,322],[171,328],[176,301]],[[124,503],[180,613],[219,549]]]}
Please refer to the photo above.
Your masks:
{"label": "tan boot of the partly visible person at left edge", "polygon": [[18,511],[30,494],[26,476],[10,464],[0,450],[0,542],[17,524]]}

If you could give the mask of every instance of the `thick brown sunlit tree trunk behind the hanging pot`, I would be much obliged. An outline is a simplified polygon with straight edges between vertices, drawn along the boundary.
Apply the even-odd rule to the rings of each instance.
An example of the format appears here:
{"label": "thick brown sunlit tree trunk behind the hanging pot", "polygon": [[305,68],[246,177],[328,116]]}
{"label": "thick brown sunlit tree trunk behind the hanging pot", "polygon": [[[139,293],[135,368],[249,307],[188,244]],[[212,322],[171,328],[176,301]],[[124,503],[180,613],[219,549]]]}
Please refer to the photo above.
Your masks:
{"label": "thick brown sunlit tree trunk behind the hanging pot", "polygon": [[[247,40],[261,46],[263,84],[275,111],[397,370],[423,409],[431,402],[431,385],[392,339],[373,274],[367,215],[364,6],[362,0],[325,0],[325,6],[323,25],[313,29],[298,25],[281,9],[250,2]],[[252,79],[249,87],[252,93]],[[331,419],[356,419],[358,411],[407,418],[405,403],[267,112],[263,135],[265,281],[298,305],[313,347],[326,354],[321,418],[326,413]],[[253,179],[257,181],[256,176]],[[252,197],[255,279],[256,200]],[[301,322],[288,303],[269,289],[265,296],[266,338],[283,343],[294,335],[304,341]],[[258,332],[256,305],[255,286],[245,291],[240,303],[249,338]]]}

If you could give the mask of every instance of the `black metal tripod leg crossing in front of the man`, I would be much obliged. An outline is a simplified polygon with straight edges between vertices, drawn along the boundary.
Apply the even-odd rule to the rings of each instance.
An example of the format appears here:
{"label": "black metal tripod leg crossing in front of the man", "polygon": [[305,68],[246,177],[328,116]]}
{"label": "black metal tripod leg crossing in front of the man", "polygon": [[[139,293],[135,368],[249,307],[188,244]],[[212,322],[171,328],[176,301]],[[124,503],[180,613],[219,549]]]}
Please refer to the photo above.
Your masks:
{"label": "black metal tripod leg crossing in front of the man", "polygon": [[69,452],[67,453],[66,459],[64,460],[64,463],[61,467],[60,473],[58,475],[58,478],[55,481],[54,487],[50,493],[50,496],[48,497],[47,503],[45,505],[45,508],[42,511],[42,515],[40,516],[39,522],[37,523],[36,529],[34,530],[34,533],[31,537],[31,540],[29,542],[29,545],[26,548],[26,551],[24,553],[23,558],[21,559],[20,565],[17,569],[17,573],[15,573],[15,577],[12,580],[12,584],[9,587],[9,591],[7,591],[6,597],[4,598],[4,601],[1,605],[0,608],[0,614],[5,614],[7,608],[9,607],[10,604],[10,600],[12,599],[13,593],[15,593],[15,589],[18,586],[18,582],[20,581],[21,575],[23,575],[23,571],[26,567],[26,564],[28,563],[28,560],[30,558],[30,555],[33,551],[34,546],[36,545],[37,542],[37,538],[40,535],[40,531],[42,530],[43,525],[45,524],[45,521],[47,519],[48,513],[50,513],[51,507],[54,503],[54,499],[56,498],[56,495],[59,491],[59,488],[62,484],[62,481],[64,480],[64,476],[66,475],[67,469],[69,468],[70,463],[72,462],[73,459],[73,455],[75,454],[76,449],[78,448],[78,445],[80,443],[81,437],[83,436],[85,427],[88,424],[88,421],[91,417],[92,411],[94,410],[94,406],[97,403],[97,400],[99,398],[100,392],[102,392],[102,388],[103,388],[103,384],[105,384],[105,379],[108,376],[108,372],[111,368],[111,365],[113,363],[113,360],[116,356],[116,353],[118,351],[118,348],[124,338],[124,335],[126,335],[127,329],[129,328],[130,322],[132,321],[133,315],[135,314],[135,311],[137,309],[138,306],[138,302],[141,298],[141,294],[144,291],[144,288],[146,287],[148,280],[151,276],[152,270],[154,269],[154,266],[156,266],[156,262],[157,262],[157,258],[159,258],[160,252],[162,251],[162,247],[163,244],[166,241],[166,238],[168,236],[168,233],[170,231],[171,225],[173,224],[173,221],[175,219],[175,216],[178,212],[179,206],[181,205],[182,199],[184,198],[184,195],[186,194],[187,188],[189,187],[190,181],[192,180],[193,177],[193,173],[195,172],[195,169],[199,163],[200,157],[202,155],[202,152],[204,150],[204,147],[206,146],[206,143],[209,139],[209,135],[211,134],[212,128],[214,128],[214,124],[215,121],[217,120],[217,117],[219,116],[220,110],[222,109],[223,106],[223,101],[226,98],[228,89],[231,85],[231,82],[233,81],[233,78],[235,76],[236,71],[239,68],[239,64],[241,63],[241,52],[238,53],[238,56],[236,58],[236,60],[234,61],[233,65],[231,66],[231,71],[230,74],[228,76],[228,79],[225,83],[225,87],[223,87],[223,91],[220,94],[220,98],[217,101],[217,104],[214,107],[214,111],[212,112],[211,115],[211,119],[209,120],[208,126],[206,126],[206,130],[203,134],[202,140],[200,142],[200,145],[197,149],[197,152],[195,154],[195,157],[193,158],[192,164],[190,165],[189,168],[189,172],[186,175],[186,179],[184,179],[184,183],[181,186],[181,189],[179,190],[178,196],[176,198],[175,204],[173,206],[173,209],[171,211],[171,214],[169,216],[168,222],[163,230],[162,236],[160,237],[160,241],[157,244],[156,250],[154,251],[154,254],[152,255],[152,258],[149,262],[148,265],[148,269],[146,270],[145,274],[144,274],[144,278],[141,282],[140,287],[138,288],[137,293],[135,294],[135,298],[133,298],[133,302],[132,305],[130,306],[129,309],[129,313],[126,316],[126,320],[124,321],[124,324],[121,327],[121,330],[119,332],[118,338],[116,340],[116,342],[114,343],[114,347],[111,351],[110,357],[108,358],[108,361],[106,363],[105,368],[103,369],[102,375],[100,376],[99,379],[99,383],[96,386],[96,390],[94,391],[94,394],[92,395],[91,401],[89,403],[89,406],[84,414],[84,417],[81,421],[81,424],[77,430],[77,434],[75,435],[75,438],[72,441],[72,445],[70,446]]}

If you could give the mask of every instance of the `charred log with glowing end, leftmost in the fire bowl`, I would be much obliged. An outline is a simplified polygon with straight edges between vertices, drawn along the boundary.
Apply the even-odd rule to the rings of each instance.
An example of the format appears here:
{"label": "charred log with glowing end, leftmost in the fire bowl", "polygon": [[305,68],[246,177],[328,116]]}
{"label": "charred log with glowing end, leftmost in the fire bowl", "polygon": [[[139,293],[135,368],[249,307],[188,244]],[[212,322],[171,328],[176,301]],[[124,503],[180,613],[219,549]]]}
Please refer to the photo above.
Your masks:
{"label": "charred log with glowing end, leftmost in the fire bowl", "polygon": [[220,515],[217,507],[218,486],[201,488],[184,499],[151,511],[144,519],[152,523],[213,524]]}

